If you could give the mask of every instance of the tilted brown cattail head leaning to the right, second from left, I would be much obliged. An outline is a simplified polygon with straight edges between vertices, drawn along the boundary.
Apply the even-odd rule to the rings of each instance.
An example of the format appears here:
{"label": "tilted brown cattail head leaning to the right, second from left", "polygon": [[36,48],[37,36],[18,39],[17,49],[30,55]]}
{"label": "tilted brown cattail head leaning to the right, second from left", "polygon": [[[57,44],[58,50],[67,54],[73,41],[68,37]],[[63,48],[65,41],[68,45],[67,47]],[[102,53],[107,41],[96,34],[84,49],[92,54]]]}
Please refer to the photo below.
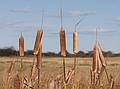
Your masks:
{"label": "tilted brown cattail head leaning to the right, second from left", "polygon": [[43,30],[38,30],[37,31],[37,36],[36,36],[36,41],[34,45],[34,55],[37,55],[40,49],[40,44],[42,40],[42,35],[43,35]]}

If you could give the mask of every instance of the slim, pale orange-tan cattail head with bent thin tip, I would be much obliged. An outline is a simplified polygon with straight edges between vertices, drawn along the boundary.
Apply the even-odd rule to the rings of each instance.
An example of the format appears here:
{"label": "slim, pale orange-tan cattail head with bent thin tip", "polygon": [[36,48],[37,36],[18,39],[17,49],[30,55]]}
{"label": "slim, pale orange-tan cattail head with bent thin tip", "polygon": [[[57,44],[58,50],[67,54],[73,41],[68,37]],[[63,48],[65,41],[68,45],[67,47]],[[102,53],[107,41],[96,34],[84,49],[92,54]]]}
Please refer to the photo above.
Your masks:
{"label": "slim, pale orange-tan cattail head with bent thin tip", "polygon": [[78,33],[73,33],[73,53],[76,54],[78,49]]}

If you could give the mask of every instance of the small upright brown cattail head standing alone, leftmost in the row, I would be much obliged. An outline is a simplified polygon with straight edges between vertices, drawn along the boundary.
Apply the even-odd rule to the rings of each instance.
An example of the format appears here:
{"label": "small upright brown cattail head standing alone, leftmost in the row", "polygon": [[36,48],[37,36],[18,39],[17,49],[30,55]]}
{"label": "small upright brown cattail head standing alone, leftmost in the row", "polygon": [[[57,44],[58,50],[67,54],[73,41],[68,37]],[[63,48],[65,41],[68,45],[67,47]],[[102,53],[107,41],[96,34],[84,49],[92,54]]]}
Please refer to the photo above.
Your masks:
{"label": "small upright brown cattail head standing alone, leftmost in the row", "polygon": [[19,56],[24,56],[24,37],[21,33],[21,37],[19,38]]}

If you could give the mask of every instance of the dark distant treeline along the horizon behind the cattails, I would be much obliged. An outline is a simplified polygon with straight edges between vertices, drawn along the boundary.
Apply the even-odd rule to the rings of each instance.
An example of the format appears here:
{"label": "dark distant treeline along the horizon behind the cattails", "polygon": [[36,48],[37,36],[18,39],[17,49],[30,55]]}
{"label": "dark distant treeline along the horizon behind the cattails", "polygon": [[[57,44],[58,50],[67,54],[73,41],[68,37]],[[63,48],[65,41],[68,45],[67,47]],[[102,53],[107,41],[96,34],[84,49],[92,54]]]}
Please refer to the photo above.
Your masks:
{"label": "dark distant treeline along the horizon behind the cattails", "polygon": [[[66,53],[67,53],[67,57],[74,56],[68,51],[66,51]],[[92,57],[92,54],[93,54],[93,51],[88,51],[88,52],[79,51],[77,53],[77,57]],[[33,50],[25,51],[25,56],[31,56],[31,55],[33,55]],[[60,52],[59,53],[46,52],[46,53],[42,53],[42,55],[44,57],[60,57]],[[113,53],[111,51],[107,51],[107,52],[103,51],[103,55],[105,57],[119,57],[120,53]],[[0,48],[0,56],[19,56],[19,52],[15,50],[14,47]]]}

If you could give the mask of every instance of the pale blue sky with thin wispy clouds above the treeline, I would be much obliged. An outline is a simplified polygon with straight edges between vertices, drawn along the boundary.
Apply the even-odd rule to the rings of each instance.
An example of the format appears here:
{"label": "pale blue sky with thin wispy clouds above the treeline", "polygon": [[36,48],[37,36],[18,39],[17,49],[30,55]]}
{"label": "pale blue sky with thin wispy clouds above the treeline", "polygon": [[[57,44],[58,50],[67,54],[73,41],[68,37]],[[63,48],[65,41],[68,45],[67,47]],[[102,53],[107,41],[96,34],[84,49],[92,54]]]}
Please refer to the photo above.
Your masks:
{"label": "pale blue sky with thin wispy clouds above the treeline", "polygon": [[33,49],[36,32],[42,25],[43,52],[59,52],[60,8],[66,31],[67,50],[72,53],[75,24],[78,50],[93,49],[98,40],[104,51],[120,52],[120,0],[0,0],[0,48],[14,46],[18,50],[21,32],[25,50]]}

